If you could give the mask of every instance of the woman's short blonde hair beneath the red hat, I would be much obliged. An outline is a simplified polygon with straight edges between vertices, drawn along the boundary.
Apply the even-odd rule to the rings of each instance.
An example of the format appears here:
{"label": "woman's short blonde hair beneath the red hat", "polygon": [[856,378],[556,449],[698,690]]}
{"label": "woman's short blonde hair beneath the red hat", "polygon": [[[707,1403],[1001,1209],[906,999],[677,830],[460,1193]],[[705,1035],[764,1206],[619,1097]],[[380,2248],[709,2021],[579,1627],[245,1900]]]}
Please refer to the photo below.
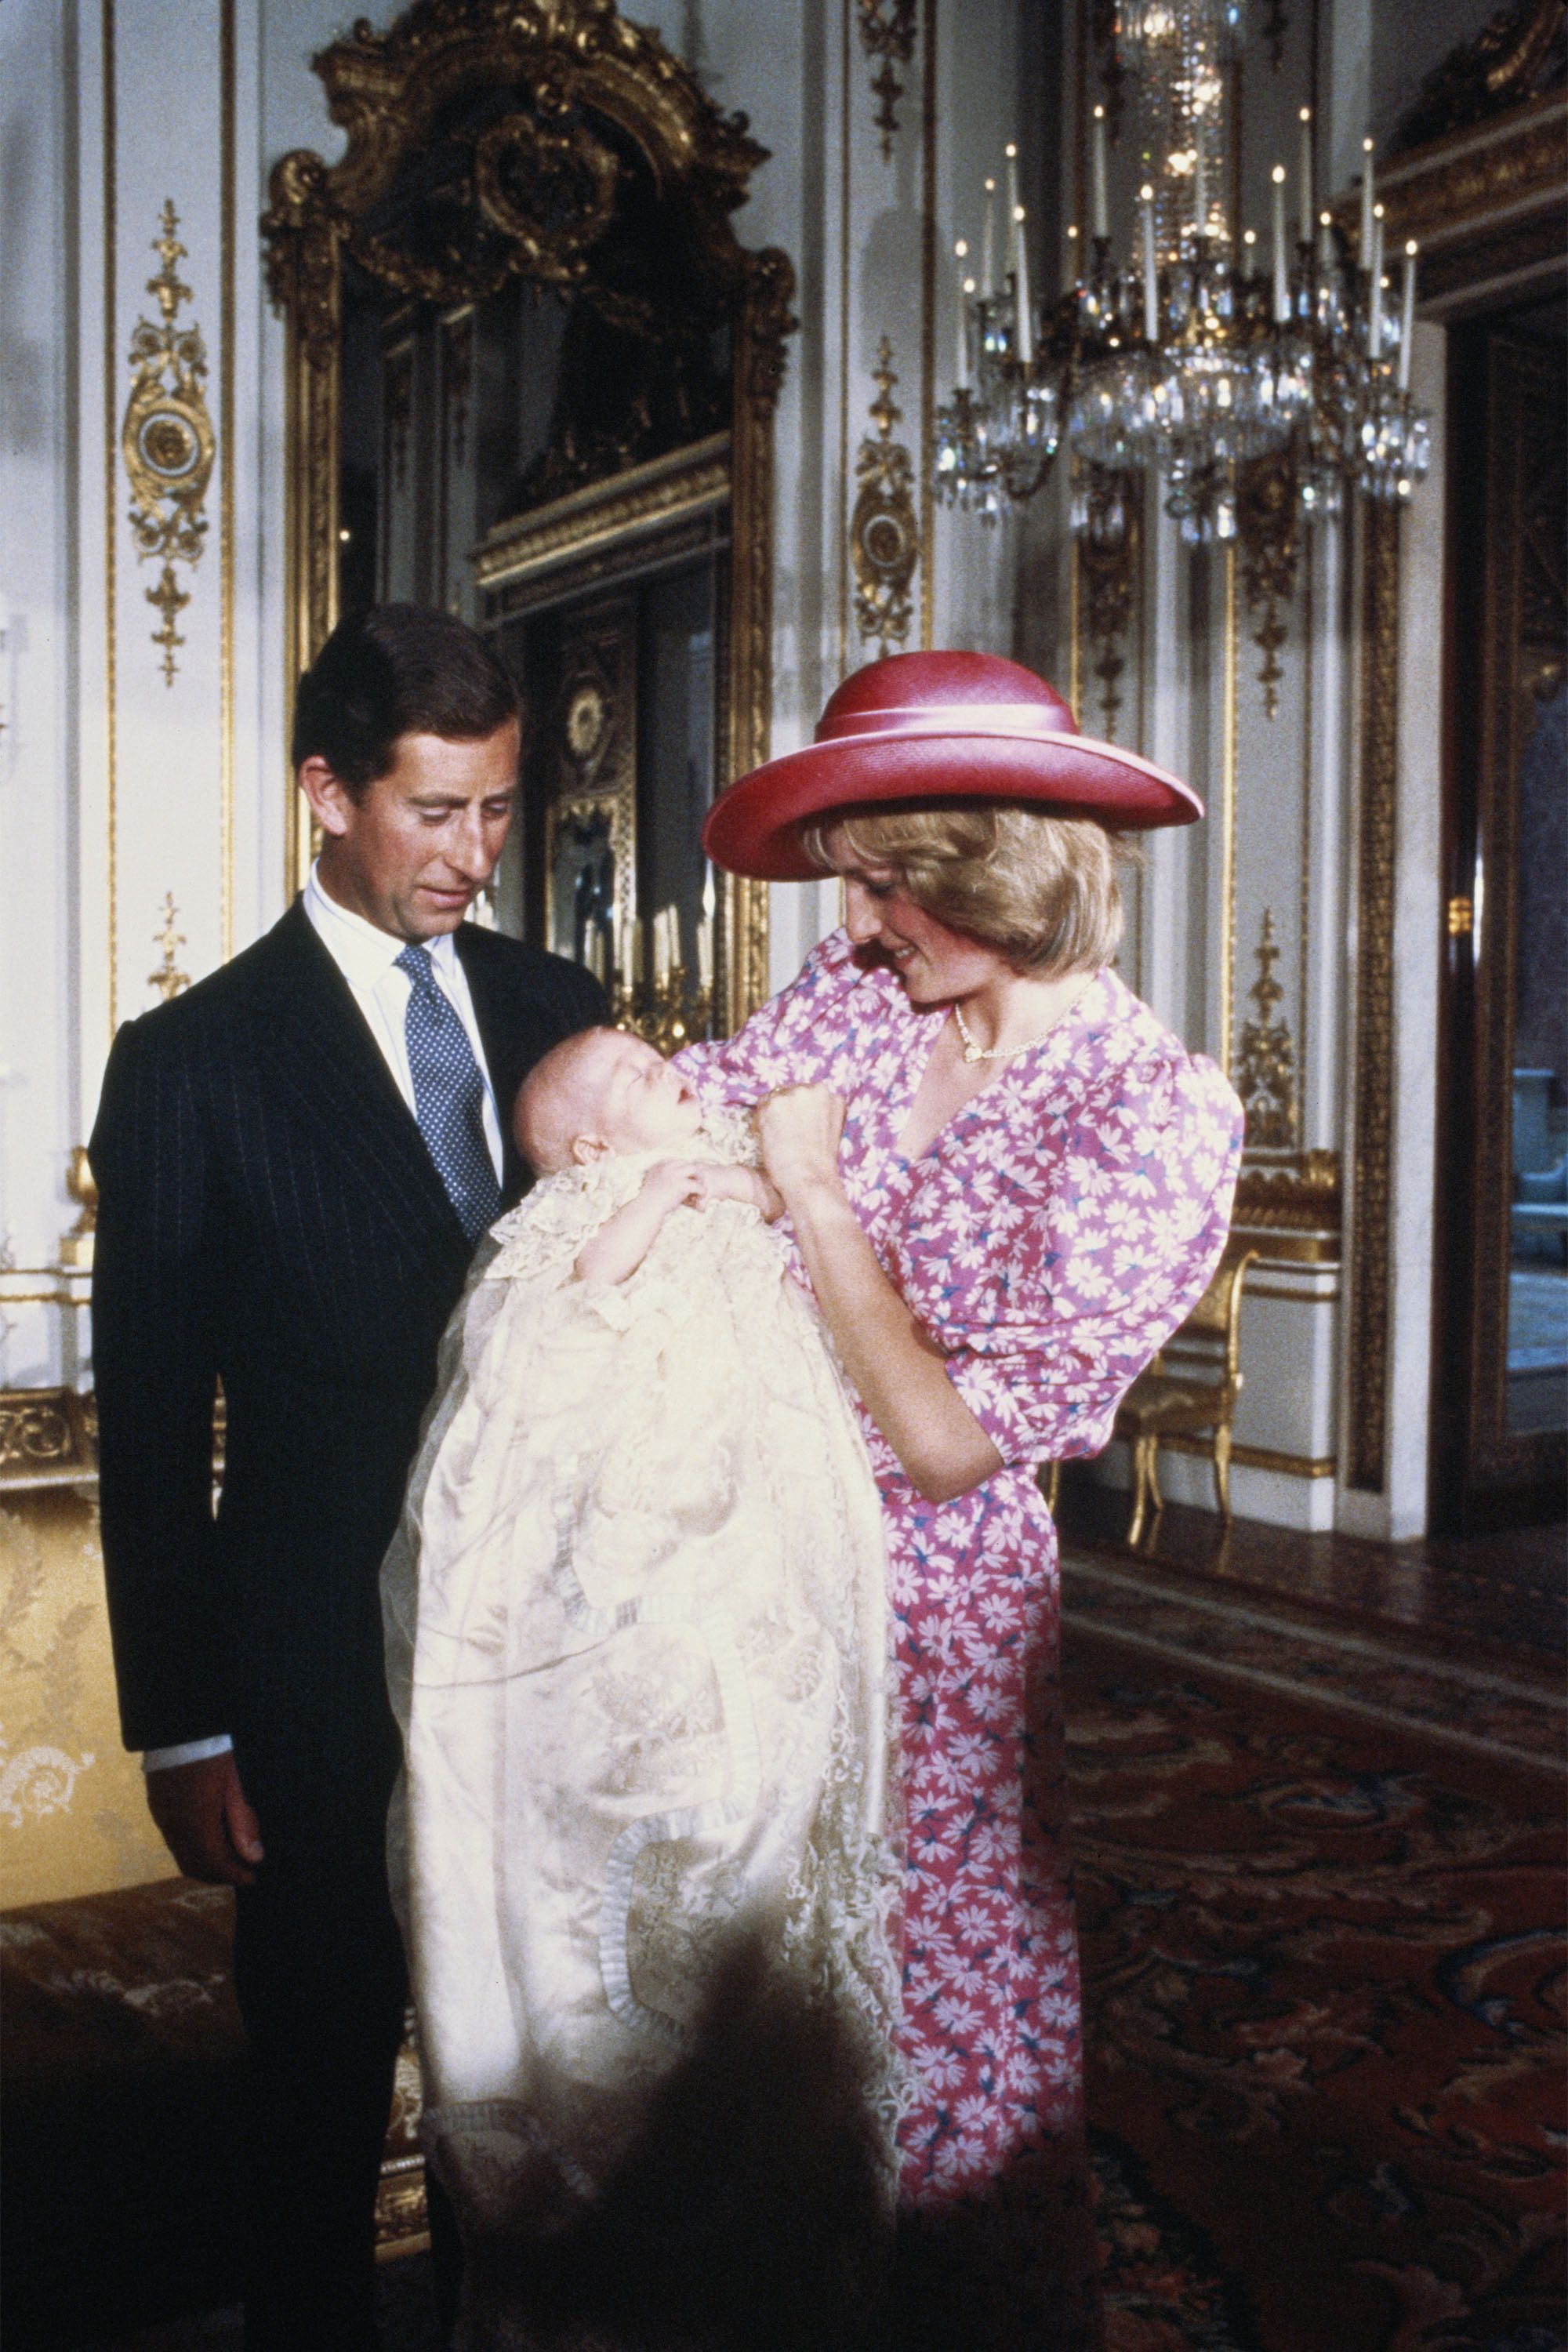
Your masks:
{"label": "woman's short blonde hair beneath the red hat", "polygon": [[802,826],[813,866],[827,842],[856,863],[889,866],[917,908],[1025,971],[1098,971],[1121,943],[1117,861],[1138,863],[1088,816],[1018,802],[851,809]]}

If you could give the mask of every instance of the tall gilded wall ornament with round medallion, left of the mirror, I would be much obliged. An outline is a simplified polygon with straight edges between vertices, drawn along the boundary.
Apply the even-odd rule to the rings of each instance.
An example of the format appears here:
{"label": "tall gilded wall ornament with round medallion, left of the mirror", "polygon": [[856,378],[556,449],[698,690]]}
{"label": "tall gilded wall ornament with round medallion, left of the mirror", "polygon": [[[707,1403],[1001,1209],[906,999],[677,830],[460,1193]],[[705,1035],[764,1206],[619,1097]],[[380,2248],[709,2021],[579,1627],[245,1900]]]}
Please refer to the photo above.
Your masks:
{"label": "tall gilded wall ornament with round medallion, left of the mirror", "polygon": [[167,687],[174,684],[174,654],[186,642],[174,628],[174,616],[190,602],[174,567],[197,564],[202,557],[207,539],[202,501],[216,456],[216,437],[202,393],[207,346],[195,325],[176,325],[179,306],[190,301],[190,287],[181,285],[176,270],[176,263],[186,259],[176,230],[174,202],[165,202],[162,235],[153,238],[153,252],[160,254],[162,268],[158,278],[148,278],[148,294],[158,301],[160,322],[139,318],[132,332],[134,381],[120,428],[120,454],[132,485],[136,560],[162,560],[158,586],[146,590],[146,600],[162,614],[162,628],[153,635],[153,644],[162,647]]}

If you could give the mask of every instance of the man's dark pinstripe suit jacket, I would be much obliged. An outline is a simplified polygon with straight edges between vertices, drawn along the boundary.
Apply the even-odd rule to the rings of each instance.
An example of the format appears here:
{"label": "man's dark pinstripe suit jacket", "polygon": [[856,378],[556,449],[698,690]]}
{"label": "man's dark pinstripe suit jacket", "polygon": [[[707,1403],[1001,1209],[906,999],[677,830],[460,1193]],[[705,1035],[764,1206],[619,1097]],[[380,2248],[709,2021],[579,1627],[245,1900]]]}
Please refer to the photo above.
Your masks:
{"label": "man's dark pinstripe suit jacket", "polygon": [[[458,955],[505,1129],[524,1073],[604,997],[470,924]],[[381,1778],[376,1571],[470,1251],[303,906],[120,1030],[89,1150],[125,1740],[233,1731],[252,1802],[320,1799],[371,1752]],[[508,1202],[522,1181],[508,1136]]]}

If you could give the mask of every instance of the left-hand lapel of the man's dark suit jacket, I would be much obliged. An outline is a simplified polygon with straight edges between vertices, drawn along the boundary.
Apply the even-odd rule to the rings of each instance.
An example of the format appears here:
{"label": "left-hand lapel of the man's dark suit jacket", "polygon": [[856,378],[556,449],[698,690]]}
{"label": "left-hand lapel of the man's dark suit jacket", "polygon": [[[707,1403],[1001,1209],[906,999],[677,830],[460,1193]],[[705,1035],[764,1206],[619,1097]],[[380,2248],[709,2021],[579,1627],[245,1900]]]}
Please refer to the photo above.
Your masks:
{"label": "left-hand lapel of the man's dark suit jacket", "polygon": [[256,971],[256,1030],[280,1089],[421,1251],[437,1237],[465,1249],[418,1122],[303,901],[268,946],[273,955]]}

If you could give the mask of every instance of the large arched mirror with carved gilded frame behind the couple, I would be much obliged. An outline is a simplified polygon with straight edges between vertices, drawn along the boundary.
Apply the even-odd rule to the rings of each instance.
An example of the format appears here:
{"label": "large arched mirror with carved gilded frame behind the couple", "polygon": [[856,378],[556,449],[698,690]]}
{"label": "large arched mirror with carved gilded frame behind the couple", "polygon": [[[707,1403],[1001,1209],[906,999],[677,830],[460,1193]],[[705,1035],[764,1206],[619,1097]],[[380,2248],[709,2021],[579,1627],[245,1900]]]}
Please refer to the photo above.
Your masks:
{"label": "large arched mirror with carved gilded frame behind the couple", "polygon": [[[769,748],[771,437],[792,270],[731,214],[764,151],[604,0],[418,0],[315,59],[348,153],[273,172],[289,659],[409,597],[524,696],[494,920],[661,1044],[766,993],[766,889],[703,814]],[[310,856],[292,795],[289,884]]]}

